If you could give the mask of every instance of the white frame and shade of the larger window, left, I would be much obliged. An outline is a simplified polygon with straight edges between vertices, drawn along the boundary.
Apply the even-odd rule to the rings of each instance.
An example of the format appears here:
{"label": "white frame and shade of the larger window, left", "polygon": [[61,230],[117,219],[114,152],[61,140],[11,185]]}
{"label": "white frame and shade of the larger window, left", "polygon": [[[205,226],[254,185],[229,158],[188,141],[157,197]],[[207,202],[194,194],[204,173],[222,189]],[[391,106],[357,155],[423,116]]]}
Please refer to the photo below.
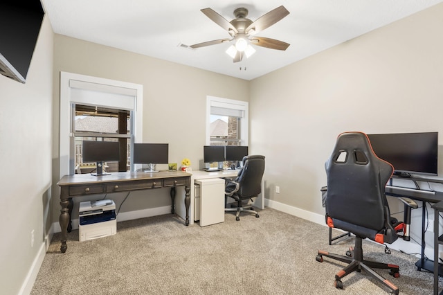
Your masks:
{"label": "white frame and shade of the larger window, left", "polygon": [[[94,91],[94,98],[78,96],[78,91]],[[107,93],[106,95],[103,95]],[[60,72],[60,178],[73,174],[71,139],[73,138],[73,103],[116,109],[127,109],[134,114],[134,141],[143,142],[143,85],[109,80],[89,75]],[[133,165],[132,165],[133,166]],[[133,170],[133,168],[132,168]]]}

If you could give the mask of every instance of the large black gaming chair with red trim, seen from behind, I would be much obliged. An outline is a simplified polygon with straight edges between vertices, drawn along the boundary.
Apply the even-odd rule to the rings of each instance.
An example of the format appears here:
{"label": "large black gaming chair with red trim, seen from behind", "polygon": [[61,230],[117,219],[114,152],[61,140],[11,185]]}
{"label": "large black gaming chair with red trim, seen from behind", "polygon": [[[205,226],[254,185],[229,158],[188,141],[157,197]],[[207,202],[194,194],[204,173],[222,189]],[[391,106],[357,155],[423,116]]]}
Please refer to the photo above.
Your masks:
{"label": "large black gaming chair with red trim, seen from behind", "polygon": [[397,240],[397,230],[404,228],[400,222],[391,223],[385,195],[385,186],[393,170],[390,163],[374,154],[366,134],[345,132],[338,136],[326,165],[326,222],[331,228],[353,233],[355,245],[346,256],[320,250],[316,256],[319,262],[323,262],[325,256],[349,263],[335,275],[336,288],[343,289],[343,277],[363,269],[391,289],[392,294],[399,294],[397,286],[372,270],[389,269],[389,274],[398,278],[398,265],[364,260],[362,249],[363,239],[390,244]]}

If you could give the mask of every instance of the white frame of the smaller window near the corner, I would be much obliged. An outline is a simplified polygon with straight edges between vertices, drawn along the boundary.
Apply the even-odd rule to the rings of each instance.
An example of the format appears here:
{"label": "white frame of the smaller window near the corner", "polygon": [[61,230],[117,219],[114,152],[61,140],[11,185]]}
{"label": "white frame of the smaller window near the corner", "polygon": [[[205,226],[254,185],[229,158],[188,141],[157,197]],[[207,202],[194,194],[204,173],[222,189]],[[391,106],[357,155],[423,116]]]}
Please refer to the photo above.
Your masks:
{"label": "white frame of the smaller window near the corner", "polygon": [[248,108],[249,103],[242,100],[228,98],[218,98],[215,96],[206,97],[206,145],[210,145],[210,115],[211,107],[219,107],[241,113],[240,117],[240,145],[248,145]]}

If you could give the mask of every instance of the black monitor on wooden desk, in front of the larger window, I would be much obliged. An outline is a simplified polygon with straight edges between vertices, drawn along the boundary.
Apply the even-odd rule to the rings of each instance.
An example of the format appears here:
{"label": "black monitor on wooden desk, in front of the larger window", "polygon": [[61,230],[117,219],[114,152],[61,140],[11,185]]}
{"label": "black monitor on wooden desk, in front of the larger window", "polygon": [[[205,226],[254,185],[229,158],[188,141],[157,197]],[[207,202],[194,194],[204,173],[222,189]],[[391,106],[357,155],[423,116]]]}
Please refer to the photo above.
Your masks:
{"label": "black monitor on wooden desk, in front of the larger window", "polygon": [[120,143],[118,141],[83,141],[83,163],[96,162],[97,170],[92,175],[109,175],[103,172],[103,162],[120,161]]}

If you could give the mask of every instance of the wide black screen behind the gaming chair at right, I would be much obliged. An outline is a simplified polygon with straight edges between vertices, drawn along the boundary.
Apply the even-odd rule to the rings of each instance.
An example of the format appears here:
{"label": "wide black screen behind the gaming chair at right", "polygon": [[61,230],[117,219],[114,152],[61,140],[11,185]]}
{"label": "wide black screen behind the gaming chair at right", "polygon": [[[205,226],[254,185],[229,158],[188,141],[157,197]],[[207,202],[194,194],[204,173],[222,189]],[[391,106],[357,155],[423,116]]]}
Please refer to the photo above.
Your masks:
{"label": "wide black screen behind the gaming chair at right", "polygon": [[437,175],[438,132],[368,134],[377,156],[400,174]]}

